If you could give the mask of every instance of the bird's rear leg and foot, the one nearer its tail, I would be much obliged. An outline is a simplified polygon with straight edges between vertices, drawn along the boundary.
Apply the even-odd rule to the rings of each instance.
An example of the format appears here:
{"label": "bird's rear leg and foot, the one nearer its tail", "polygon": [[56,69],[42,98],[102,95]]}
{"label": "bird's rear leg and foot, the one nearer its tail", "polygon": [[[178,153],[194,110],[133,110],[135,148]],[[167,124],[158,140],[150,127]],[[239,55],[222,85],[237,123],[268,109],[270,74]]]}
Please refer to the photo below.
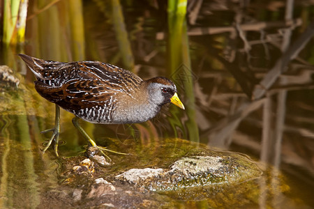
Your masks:
{"label": "bird's rear leg and foot, the one nearer its tail", "polygon": [[58,144],[59,144],[59,134],[60,134],[60,107],[56,104],[56,117],[55,117],[55,123],[54,127],[48,130],[44,130],[40,133],[46,133],[46,132],[52,132],[52,137],[48,141],[47,146],[43,149],[43,153],[47,150],[47,148],[50,147],[52,140],[54,140],[54,152],[56,153],[57,157],[58,155]]}

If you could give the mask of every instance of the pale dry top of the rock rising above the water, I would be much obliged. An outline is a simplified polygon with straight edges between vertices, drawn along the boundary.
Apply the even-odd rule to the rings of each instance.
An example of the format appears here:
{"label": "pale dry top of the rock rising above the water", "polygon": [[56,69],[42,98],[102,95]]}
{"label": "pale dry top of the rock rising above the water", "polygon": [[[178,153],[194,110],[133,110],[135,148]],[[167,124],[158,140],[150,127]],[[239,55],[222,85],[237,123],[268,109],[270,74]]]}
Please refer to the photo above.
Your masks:
{"label": "pale dry top of the rock rising above the water", "polygon": [[182,157],[169,169],[130,169],[115,178],[151,191],[169,191],[241,183],[260,175],[260,169],[248,158],[234,155]]}

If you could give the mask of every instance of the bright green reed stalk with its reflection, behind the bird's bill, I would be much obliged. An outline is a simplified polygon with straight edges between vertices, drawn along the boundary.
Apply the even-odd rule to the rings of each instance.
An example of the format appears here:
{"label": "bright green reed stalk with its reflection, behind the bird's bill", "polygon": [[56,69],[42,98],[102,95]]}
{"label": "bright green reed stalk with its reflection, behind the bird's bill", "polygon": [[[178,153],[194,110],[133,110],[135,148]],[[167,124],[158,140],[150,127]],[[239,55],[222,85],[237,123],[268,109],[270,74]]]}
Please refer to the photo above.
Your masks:
{"label": "bright green reed stalk with its reflection, behind the bird's bill", "polygon": [[[170,72],[174,75],[175,83],[183,84],[185,91],[185,106],[188,114],[186,127],[188,128],[188,139],[199,141],[199,132],[196,123],[195,95],[193,91],[193,75],[190,65],[190,52],[188,34],[186,29],[186,6],[187,0],[168,1],[168,54]],[[184,70],[187,68],[188,70]],[[181,70],[184,70],[181,72]],[[180,74],[184,74],[181,79]],[[178,121],[172,121],[178,123]]]}

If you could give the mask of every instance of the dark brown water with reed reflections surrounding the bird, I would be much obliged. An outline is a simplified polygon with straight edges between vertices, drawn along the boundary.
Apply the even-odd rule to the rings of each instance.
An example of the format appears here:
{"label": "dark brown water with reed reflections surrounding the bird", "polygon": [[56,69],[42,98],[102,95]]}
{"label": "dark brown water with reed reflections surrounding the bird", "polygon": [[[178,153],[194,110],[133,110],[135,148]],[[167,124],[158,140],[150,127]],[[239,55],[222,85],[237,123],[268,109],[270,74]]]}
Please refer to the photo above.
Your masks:
{"label": "dark brown water with reed reflections surrounding the bird", "polygon": [[[144,79],[169,77],[186,111],[167,106],[151,121],[130,127],[84,123],[96,139],[179,137],[246,153],[283,171],[290,198],[313,207],[313,13],[311,1],[188,1],[180,22],[182,17],[167,13],[166,1],[29,1],[26,41],[1,46],[1,65],[32,92],[20,96],[24,110],[17,104],[2,108],[1,155],[16,163],[21,158],[8,153],[5,139],[13,140],[13,150],[39,153],[50,136],[39,131],[54,124],[54,106],[33,92],[34,77],[16,54],[98,60]],[[61,111],[61,155],[75,155],[86,144],[71,117]],[[23,175],[44,170],[41,180],[54,182],[49,152],[45,163]],[[28,159],[29,166],[36,157]],[[2,176],[15,164],[3,162]],[[29,194],[33,187],[27,187]]]}

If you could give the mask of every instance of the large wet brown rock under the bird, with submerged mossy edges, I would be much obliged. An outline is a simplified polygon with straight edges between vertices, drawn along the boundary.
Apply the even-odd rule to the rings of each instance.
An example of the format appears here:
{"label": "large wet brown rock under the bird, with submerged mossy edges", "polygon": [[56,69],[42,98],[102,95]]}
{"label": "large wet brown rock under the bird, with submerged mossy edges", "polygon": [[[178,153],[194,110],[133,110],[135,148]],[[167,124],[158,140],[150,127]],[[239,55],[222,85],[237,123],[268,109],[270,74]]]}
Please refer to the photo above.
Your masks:
{"label": "large wet brown rock under the bird, with submerged mossy edges", "polygon": [[[252,184],[262,175],[245,155],[212,151],[181,139],[167,141],[158,152],[178,142],[194,149],[185,155],[163,157],[168,160],[165,162],[152,160],[149,165],[147,159],[135,154],[132,156],[136,160],[131,155],[110,156],[112,164],[107,167],[84,156],[63,157],[60,186],[47,196],[78,208],[173,208],[178,200],[213,199],[228,192],[251,193],[255,189]],[[156,158],[158,152],[151,157]]]}

